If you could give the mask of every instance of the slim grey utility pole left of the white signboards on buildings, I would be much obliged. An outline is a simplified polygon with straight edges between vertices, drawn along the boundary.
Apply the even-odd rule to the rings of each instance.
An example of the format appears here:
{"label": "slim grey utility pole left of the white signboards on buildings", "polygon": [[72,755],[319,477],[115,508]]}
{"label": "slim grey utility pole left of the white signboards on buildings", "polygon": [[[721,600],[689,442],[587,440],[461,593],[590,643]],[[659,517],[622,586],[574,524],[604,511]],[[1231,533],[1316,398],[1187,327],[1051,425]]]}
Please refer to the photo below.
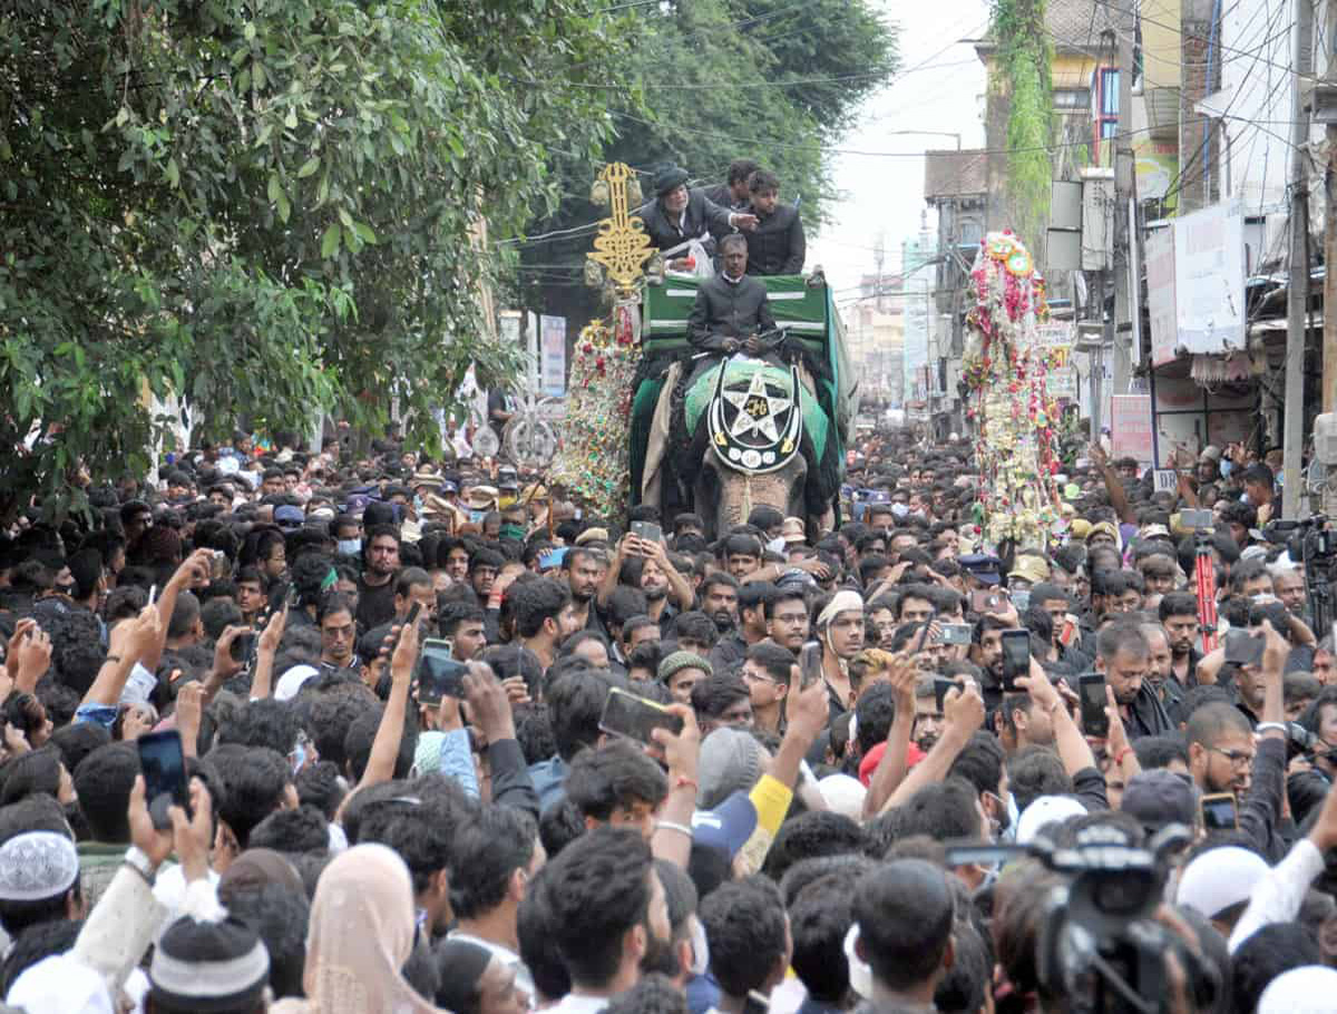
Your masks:
{"label": "slim grey utility pole left of the white signboards on buildings", "polygon": [[1138,183],[1132,157],[1132,36],[1136,25],[1124,13],[1106,8],[1118,19],[1115,37],[1119,45],[1119,131],[1114,138],[1114,388],[1111,395],[1127,395],[1132,379],[1132,361],[1139,352],[1132,348],[1132,293],[1128,265],[1132,245],[1138,242],[1138,223],[1130,221],[1128,209],[1136,201]]}

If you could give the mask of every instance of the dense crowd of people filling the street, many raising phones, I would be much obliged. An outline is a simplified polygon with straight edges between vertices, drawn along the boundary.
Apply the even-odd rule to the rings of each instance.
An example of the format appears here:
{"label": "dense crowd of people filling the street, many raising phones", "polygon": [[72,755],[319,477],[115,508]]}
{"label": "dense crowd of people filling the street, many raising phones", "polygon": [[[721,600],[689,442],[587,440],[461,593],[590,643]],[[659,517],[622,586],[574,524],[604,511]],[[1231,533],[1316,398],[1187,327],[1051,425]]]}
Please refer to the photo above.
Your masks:
{"label": "dense crowd of people filling the street, many raising phones", "polygon": [[1337,1010],[1329,562],[1275,536],[1243,448],[1174,492],[1088,455],[1044,547],[981,546],[971,444],[898,431],[858,441],[830,531],[242,435],[86,516],[27,504],[0,995]]}

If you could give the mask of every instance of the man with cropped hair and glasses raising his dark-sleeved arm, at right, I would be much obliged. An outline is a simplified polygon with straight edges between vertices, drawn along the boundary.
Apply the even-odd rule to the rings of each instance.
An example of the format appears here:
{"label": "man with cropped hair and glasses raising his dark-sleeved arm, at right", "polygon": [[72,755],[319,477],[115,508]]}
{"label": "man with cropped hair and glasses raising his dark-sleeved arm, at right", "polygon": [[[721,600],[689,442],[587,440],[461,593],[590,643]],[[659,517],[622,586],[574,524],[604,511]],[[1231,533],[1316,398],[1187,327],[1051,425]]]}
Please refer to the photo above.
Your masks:
{"label": "man with cropped hair and glasses raising his dark-sleeved arm, at right", "polygon": [[[1282,669],[1290,646],[1269,621],[1262,623],[1262,721],[1249,720],[1229,704],[1209,704],[1189,718],[1189,771],[1203,793],[1234,793],[1239,829],[1259,852],[1280,859],[1285,845],[1277,836],[1286,776],[1286,709]],[[1254,746],[1257,732],[1258,745]]]}

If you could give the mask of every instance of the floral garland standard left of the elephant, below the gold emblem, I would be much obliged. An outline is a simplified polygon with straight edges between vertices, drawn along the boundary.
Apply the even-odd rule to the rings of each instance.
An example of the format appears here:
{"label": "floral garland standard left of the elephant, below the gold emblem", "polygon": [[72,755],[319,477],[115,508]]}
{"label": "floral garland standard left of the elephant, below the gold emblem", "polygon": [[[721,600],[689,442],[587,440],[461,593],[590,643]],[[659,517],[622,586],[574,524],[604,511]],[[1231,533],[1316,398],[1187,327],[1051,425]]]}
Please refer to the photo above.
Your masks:
{"label": "floral garland standard left of the elephant, below the gold emblem", "polygon": [[595,320],[576,340],[562,448],[550,478],[600,518],[619,516],[631,482],[631,381],[640,363],[636,308],[619,302],[612,326]]}

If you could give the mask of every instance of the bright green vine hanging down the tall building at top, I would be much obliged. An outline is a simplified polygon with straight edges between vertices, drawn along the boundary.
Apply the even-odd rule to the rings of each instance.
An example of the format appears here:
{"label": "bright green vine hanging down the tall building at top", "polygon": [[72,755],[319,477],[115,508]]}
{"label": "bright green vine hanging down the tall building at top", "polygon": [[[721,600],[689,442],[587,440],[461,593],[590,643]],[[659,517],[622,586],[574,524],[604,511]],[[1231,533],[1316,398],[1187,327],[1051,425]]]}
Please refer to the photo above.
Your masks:
{"label": "bright green vine hanging down the tall building at top", "polygon": [[1007,197],[1013,229],[1043,258],[1054,167],[1054,47],[1044,27],[1046,0],[995,0],[989,35],[997,40],[1001,74],[995,87],[1008,98]]}

